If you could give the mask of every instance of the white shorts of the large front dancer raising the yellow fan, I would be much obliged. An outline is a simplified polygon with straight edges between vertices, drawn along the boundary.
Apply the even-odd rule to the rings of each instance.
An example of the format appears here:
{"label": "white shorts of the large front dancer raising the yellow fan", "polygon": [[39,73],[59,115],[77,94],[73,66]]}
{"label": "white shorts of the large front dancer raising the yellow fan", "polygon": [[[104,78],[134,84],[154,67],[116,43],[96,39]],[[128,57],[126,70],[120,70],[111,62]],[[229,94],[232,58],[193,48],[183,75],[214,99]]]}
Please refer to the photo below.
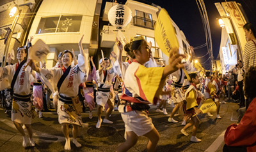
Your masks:
{"label": "white shorts of the large front dancer raising the yellow fan", "polygon": [[154,128],[151,118],[148,117],[145,111],[129,111],[121,113],[121,116],[125,123],[125,132],[134,132],[141,136]]}

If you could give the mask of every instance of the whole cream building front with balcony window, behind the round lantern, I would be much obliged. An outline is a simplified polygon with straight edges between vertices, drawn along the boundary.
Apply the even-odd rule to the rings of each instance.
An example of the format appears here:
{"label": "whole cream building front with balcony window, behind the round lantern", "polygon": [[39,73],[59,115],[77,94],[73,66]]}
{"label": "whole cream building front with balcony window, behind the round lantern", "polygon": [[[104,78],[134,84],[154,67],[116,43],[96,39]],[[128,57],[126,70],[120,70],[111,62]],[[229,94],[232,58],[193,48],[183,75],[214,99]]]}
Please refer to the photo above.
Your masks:
{"label": "whole cream building front with balcony window, behind the round lantern", "polygon": [[[116,27],[113,27],[109,24],[108,20],[108,11],[112,6],[117,5],[118,3],[110,3],[106,2],[104,12],[102,13],[102,26],[100,29],[100,43],[98,49],[98,59],[101,59],[100,50],[103,50],[104,56],[109,57],[111,51],[117,52],[116,43]],[[127,42],[134,36],[144,36],[146,41],[152,43],[152,55],[157,62],[157,65],[161,66],[161,61],[164,64],[168,64],[168,57],[161,52],[161,49],[156,43],[156,39],[154,38],[154,27],[157,20],[157,15],[161,10],[160,6],[157,6],[153,3],[147,3],[145,1],[132,1],[127,0],[125,5],[127,5],[132,11],[132,20],[130,24],[127,25],[124,29],[122,29],[122,33],[124,34]],[[177,38],[179,41],[179,51],[180,53],[184,53],[188,56],[189,51],[189,42],[186,39],[186,36],[182,31],[180,31],[179,27],[173,22],[173,26],[175,27],[175,32],[177,34]],[[126,59],[126,53],[122,53],[122,57]]]}

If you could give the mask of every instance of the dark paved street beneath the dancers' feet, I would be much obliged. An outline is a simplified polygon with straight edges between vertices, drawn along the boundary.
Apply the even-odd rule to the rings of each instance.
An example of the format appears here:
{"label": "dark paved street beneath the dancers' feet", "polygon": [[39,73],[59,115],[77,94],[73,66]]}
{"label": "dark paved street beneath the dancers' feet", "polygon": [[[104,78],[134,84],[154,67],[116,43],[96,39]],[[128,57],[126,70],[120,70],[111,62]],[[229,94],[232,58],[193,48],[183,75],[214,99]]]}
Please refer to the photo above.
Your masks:
{"label": "dark paved street beneath the dancers' feet", "polygon": [[[202,139],[202,142],[193,143],[191,137],[192,127],[189,128],[188,137],[181,134],[182,128],[181,116],[176,116],[175,120],[179,123],[169,123],[168,116],[172,111],[172,106],[167,106],[168,116],[163,113],[156,113],[156,106],[151,106],[150,117],[160,134],[160,140],[156,151],[222,151],[224,142],[223,134],[231,123],[236,123],[237,111],[239,106],[232,102],[221,104],[220,120],[216,119],[216,113],[213,117],[201,114],[200,125],[196,136]],[[65,137],[61,132],[61,125],[58,123],[56,113],[43,113],[44,118],[35,118],[32,121],[33,135],[36,143],[35,148],[23,148],[22,136],[15,129],[10,114],[4,114],[0,110],[0,149],[1,151],[64,151]],[[104,113],[103,113],[104,114]],[[231,120],[230,120],[231,119]],[[82,144],[82,148],[76,148],[71,143],[71,151],[115,151],[124,139],[124,121],[118,111],[111,114],[109,120],[114,121],[113,125],[102,123],[102,127],[97,129],[96,112],[93,113],[93,119],[88,118],[88,113],[83,113],[83,121],[89,123],[88,128],[81,128],[77,141]],[[70,131],[72,128],[70,128]],[[72,139],[72,134],[70,132]],[[129,151],[145,151],[147,138],[140,137],[136,146]]]}

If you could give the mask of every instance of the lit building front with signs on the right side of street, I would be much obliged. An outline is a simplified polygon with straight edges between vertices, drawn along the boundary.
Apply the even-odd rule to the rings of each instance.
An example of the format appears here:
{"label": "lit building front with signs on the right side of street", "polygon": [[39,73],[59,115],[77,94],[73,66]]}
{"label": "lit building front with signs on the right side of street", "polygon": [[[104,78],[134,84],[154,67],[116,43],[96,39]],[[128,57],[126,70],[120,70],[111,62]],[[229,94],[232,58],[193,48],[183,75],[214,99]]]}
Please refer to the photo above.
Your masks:
{"label": "lit building front with signs on the right side of street", "polygon": [[220,64],[225,73],[236,67],[237,60],[243,60],[243,50],[246,44],[243,25],[248,22],[241,4],[236,1],[215,3],[225,24],[221,30]]}

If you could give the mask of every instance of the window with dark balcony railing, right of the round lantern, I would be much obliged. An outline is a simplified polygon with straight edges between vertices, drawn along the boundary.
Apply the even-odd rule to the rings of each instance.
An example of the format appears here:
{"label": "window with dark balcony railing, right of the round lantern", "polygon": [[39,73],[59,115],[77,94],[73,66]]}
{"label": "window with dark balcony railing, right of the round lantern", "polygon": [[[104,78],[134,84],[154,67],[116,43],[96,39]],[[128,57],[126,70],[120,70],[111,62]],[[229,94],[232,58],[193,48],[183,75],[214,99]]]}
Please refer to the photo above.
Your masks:
{"label": "window with dark balcony railing, right of the round lantern", "polygon": [[134,25],[154,29],[154,23],[155,21],[152,20],[152,15],[150,13],[135,10]]}

